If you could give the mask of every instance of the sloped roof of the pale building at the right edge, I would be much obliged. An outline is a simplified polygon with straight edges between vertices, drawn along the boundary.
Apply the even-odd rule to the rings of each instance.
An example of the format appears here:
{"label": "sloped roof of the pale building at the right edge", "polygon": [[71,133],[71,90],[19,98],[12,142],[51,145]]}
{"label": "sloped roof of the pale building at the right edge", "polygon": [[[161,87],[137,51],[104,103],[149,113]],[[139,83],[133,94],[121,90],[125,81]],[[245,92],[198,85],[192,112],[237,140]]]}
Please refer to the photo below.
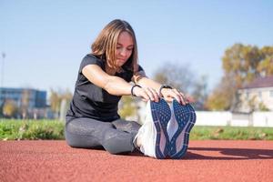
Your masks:
{"label": "sloped roof of the pale building at the right edge", "polygon": [[273,76],[258,77],[242,89],[273,87]]}

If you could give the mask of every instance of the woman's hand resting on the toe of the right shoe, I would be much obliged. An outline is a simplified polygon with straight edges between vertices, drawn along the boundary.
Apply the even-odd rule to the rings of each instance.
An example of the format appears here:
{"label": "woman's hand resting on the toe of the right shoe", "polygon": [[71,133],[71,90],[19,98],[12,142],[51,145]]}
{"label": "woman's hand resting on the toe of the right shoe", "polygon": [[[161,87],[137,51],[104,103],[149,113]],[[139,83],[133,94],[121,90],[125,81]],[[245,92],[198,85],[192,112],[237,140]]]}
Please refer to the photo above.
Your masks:
{"label": "woman's hand resting on the toe of the right shoe", "polygon": [[173,99],[177,99],[177,102],[181,105],[186,105],[193,101],[192,98],[185,96],[182,92],[179,92],[176,88],[163,88],[161,90],[162,96],[167,102],[172,102]]}

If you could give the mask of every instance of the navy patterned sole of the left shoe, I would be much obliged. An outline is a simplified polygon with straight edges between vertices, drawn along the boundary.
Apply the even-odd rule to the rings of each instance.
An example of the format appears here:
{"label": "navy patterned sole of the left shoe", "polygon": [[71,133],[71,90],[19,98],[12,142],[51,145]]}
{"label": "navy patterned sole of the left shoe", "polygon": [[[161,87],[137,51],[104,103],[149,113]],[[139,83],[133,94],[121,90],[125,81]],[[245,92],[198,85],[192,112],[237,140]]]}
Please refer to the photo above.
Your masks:
{"label": "navy patterned sole of the left shoe", "polygon": [[[163,159],[168,153],[168,135],[167,123],[171,118],[171,110],[164,99],[157,102],[151,102],[151,111],[154,124],[157,130],[156,138],[156,157]],[[164,141],[165,137],[165,141]]]}

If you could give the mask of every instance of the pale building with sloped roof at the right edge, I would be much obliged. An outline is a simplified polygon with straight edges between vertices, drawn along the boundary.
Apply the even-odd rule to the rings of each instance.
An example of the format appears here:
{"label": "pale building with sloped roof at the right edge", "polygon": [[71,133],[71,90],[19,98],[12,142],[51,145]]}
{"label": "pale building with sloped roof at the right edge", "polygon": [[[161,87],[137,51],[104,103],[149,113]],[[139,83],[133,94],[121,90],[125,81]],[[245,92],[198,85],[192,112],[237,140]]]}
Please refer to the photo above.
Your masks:
{"label": "pale building with sloped roof at the right edge", "polygon": [[239,112],[273,111],[273,76],[258,77],[238,89],[238,99]]}

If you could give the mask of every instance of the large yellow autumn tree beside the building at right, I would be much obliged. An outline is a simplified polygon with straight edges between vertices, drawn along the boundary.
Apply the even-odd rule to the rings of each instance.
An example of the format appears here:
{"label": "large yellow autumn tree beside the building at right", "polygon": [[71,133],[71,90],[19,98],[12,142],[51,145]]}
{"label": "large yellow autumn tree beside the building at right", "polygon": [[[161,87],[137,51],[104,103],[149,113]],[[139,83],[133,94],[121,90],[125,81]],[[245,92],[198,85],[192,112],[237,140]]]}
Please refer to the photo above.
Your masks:
{"label": "large yellow autumn tree beside the building at right", "polygon": [[207,99],[212,110],[236,110],[238,88],[246,86],[258,76],[273,75],[273,46],[235,44],[225,51],[222,58],[224,76],[221,83]]}

